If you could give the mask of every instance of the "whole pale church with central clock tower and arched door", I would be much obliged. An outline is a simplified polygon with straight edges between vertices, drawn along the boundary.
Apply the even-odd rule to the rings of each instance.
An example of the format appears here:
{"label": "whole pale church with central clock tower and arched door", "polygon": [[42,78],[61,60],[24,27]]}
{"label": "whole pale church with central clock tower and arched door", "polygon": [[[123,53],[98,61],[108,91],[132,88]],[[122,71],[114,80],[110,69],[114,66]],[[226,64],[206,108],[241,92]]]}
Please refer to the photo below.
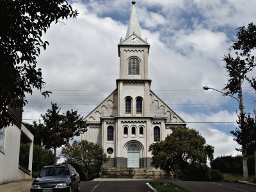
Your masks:
{"label": "whole pale church with central clock tower and arched door", "polygon": [[109,157],[106,167],[152,167],[149,146],[163,141],[172,133],[172,127],[186,126],[150,90],[150,45],[141,36],[135,4],[132,1],[127,33],[118,44],[120,76],[116,79],[116,89],[84,118],[88,131],[81,139],[104,148]]}

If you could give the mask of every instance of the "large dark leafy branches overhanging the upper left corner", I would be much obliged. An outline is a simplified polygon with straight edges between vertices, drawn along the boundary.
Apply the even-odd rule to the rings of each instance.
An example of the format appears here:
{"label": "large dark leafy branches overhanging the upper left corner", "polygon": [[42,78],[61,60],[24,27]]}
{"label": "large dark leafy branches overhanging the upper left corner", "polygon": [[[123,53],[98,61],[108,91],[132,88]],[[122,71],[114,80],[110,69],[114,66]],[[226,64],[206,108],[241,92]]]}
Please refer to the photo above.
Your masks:
{"label": "large dark leafy branches overhanging the upper left corner", "polygon": [[[0,23],[0,127],[13,123],[8,106],[26,104],[25,93],[42,90],[45,82],[36,58],[49,44],[42,33],[58,19],[77,17],[68,0],[1,0]],[[50,92],[42,92],[45,97]]]}

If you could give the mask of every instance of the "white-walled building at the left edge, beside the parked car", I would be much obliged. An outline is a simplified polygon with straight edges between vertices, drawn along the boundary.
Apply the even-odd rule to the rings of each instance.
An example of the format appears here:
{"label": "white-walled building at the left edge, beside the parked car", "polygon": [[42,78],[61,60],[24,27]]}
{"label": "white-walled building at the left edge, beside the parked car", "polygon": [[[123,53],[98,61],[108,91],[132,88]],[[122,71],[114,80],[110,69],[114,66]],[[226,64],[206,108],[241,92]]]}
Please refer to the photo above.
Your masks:
{"label": "white-walled building at the left edge, beside the parked car", "polygon": [[[0,184],[13,180],[31,179],[34,136],[21,124],[22,110],[17,110],[15,124],[0,127]],[[30,141],[28,170],[19,165],[20,136]]]}

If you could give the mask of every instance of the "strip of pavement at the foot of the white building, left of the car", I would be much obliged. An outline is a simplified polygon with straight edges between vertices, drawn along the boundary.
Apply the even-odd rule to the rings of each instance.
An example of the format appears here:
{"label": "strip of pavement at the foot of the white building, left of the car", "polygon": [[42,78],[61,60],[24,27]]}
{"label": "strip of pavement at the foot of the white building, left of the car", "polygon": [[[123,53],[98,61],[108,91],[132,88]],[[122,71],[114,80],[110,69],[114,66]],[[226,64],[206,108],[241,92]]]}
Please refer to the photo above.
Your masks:
{"label": "strip of pavement at the foot of the white building, left of the car", "polygon": [[34,179],[16,180],[7,184],[0,184],[0,192],[29,192]]}

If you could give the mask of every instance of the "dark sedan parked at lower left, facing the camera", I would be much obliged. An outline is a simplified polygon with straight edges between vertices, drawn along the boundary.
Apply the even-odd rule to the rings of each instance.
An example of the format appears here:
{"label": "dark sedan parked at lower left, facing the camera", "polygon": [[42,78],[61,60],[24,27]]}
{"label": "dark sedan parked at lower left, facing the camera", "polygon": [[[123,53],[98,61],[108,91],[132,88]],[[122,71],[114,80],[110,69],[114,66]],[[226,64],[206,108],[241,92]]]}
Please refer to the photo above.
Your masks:
{"label": "dark sedan parked at lower left, facing the camera", "polygon": [[33,181],[31,192],[80,191],[79,173],[70,164],[44,166]]}

